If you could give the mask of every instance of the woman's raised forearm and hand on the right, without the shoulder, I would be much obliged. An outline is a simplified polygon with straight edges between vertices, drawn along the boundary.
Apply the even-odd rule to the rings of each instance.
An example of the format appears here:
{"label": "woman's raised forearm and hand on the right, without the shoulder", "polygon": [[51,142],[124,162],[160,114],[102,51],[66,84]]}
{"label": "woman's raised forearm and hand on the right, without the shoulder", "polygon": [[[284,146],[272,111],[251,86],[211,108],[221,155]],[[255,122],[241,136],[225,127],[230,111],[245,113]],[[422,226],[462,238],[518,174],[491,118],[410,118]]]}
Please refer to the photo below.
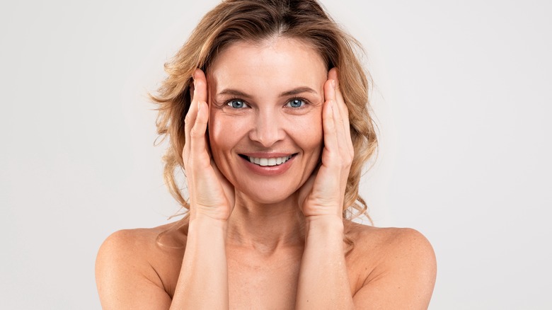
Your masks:
{"label": "woman's raised forearm and hand on the right, without the shoulder", "polygon": [[337,69],[328,72],[324,96],[322,163],[299,195],[306,235],[296,305],[297,309],[352,309],[342,206],[354,149]]}

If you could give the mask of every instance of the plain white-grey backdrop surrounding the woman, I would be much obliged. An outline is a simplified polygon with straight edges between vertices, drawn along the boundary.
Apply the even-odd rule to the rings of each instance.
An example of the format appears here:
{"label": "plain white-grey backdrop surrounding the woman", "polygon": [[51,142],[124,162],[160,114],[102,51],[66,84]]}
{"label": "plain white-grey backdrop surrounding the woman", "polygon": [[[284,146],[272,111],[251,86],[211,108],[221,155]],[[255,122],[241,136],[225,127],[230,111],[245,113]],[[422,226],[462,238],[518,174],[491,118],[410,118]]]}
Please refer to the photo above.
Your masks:
{"label": "plain white-grey backdrop surrounding the woman", "polygon": [[[3,309],[99,309],[103,239],[176,212],[146,92],[216,3],[2,5]],[[377,226],[432,242],[430,309],[551,309],[551,2],[324,4],[376,86],[362,193]]]}

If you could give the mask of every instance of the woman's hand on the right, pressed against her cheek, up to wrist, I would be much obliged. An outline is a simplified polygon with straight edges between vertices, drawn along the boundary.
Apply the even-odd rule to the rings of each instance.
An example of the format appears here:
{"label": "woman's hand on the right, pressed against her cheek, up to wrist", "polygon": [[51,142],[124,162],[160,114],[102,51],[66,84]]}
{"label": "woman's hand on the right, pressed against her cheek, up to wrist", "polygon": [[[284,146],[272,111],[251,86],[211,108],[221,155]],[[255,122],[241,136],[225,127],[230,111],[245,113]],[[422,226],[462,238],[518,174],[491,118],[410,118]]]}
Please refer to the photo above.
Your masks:
{"label": "woman's hand on the right, pressed against her cheek, up to wrist", "polygon": [[355,150],[352,147],[349,113],[340,92],[338,71],[328,72],[324,84],[322,162],[299,190],[304,216],[343,217],[343,200]]}

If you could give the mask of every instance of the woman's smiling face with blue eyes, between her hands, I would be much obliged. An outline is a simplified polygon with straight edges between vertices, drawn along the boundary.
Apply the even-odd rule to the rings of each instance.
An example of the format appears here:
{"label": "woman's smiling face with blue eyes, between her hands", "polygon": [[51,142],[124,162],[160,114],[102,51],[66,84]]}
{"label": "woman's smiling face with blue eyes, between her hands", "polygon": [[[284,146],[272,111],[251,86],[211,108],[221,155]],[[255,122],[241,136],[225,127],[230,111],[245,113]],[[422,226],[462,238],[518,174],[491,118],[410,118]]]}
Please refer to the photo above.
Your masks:
{"label": "woman's smiling face with blue eyes, between her hands", "polygon": [[220,171],[260,203],[295,193],[323,142],[321,56],[301,40],[236,42],[207,72],[209,139]]}

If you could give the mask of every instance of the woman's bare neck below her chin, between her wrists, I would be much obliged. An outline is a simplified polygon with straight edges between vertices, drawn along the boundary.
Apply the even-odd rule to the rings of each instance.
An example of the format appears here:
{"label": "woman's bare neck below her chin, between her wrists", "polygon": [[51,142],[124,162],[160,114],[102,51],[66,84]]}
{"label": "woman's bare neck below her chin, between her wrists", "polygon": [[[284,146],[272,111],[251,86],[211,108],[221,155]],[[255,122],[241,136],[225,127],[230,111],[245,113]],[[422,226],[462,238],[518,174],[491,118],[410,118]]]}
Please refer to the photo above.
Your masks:
{"label": "woman's bare neck below her chin, between her wrists", "polygon": [[236,195],[226,243],[268,255],[282,247],[304,246],[304,217],[297,197],[292,195],[275,204],[260,204]]}

